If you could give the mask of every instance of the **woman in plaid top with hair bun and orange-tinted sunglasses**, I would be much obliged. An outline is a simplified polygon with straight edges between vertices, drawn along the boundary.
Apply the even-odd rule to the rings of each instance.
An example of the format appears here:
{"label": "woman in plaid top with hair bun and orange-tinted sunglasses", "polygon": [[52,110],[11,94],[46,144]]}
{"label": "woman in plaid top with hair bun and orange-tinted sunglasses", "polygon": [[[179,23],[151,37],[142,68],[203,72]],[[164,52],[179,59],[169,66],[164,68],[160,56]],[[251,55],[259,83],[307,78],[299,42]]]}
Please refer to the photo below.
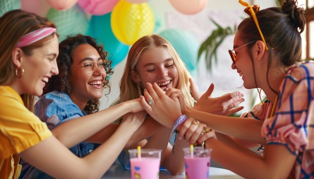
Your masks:
{"label": "woman in plaid top with hair bun and orange-tinted sunglasses", "polygon": [[[249,6],[242,0],[240,3]],[[234,38],[232,68],[242,76],[246,88],[260,88],[268,97],[263,121],[193,110],[186,106],[180,92],[168,93],[172,98],[167,98],[156,84],[148,85],[149,93],[145,92],[142,104],[154,116],[162,109],[148,105],[146,100],[167,101],[175,106],[174,96],[179,96],[187,116],[217,132],[264,144],[264,154],[258,155],[214,137],[205,142],[213,149],[214,160],[245,178],[313,178],[314,63],[301,61],[304,10],[297,1],[284,0],[281,8],[250,12],[252,16],[239,24]],[[174,123],[166,122],[168,126]]]}

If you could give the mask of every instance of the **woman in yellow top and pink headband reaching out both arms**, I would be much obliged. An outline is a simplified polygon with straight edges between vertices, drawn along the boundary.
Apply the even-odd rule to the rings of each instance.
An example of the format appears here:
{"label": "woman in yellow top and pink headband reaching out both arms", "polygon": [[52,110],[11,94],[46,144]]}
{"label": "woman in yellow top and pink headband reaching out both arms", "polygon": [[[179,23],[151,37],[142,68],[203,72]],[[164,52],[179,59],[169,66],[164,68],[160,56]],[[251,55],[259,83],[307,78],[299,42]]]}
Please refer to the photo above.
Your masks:
{"label": "woman in yellow top and pink headband reaching out both arms", "polygon": [[48,79],[59,73],[55,24],[17,9],[0,17],[0,26],[0,37],[6,39],[0,43],[0,178],[19,177],[20,157],[56,178],[100,178],[144,117],[129,115],[107,142],[84,158],[75,156],[68,147],[93,135],[121,114],[143,110],[139,99],[90,114],[88,117],[94,122],[85,122],[88,118],[82,116],[73,119],[80,125],[73,125],[72,120],[60,124],[68,126],[71,138],[64,142],[66,145],[62,144],[32,112],[34,96],[42,95]]}

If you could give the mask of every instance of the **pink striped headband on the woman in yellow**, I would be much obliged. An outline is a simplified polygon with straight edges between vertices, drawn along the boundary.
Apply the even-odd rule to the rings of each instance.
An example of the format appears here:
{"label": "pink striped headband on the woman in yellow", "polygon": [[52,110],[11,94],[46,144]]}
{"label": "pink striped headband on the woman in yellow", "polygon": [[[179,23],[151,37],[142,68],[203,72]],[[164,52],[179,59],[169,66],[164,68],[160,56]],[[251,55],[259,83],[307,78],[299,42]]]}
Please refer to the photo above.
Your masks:
{"label": "pink striped headband on the woman in yellow", "polygon": [[24,36],[21,37],[20,41],[16,45],[16,47],[23,47],[29,44],[32,44],[38,40],[45,38],[46,36],[50,35],[51,33],[55,32],[57,29],[53,27],[44,27],[32,31]]}

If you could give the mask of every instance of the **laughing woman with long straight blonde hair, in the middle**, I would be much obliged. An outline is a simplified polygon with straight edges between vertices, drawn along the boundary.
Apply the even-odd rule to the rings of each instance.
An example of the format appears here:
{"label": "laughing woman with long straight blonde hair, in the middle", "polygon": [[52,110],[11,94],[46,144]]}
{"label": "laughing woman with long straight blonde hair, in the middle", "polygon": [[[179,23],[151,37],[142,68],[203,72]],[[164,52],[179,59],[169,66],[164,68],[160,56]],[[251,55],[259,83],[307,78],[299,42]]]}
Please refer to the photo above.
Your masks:
{"label": "laughing woman with long straight blonde hair, in the middle", "polygon": [[[191,84],[190,84],[191,81]],[[147,82],[156,82],[163,91],[170,88],[178,88],[182,91],[188,106],[193,107],[199,98],[199,93],[191,80],[191,75],[184,62],[179,57],[173,46],[160,35],[146,35],[138,39],[130,48],[125,69],[120,81],[120,96],[113,104],[138,98],[143,95]],[[236,107],[244,99],[243,94],[236,91],[225,94],[221,97],[212,98],[210,94],[213,90],[211,85],[205,95],[196,103],[194,108],[213,112],[216,114],[228,115],[241,110],[243,107]],[[153,101],[149,101],[150,104]],[[165,105],[166,106],[166,105]],[[169,108],[162,116],[153,117],[154,120],[160,121],[164,118],[167,120],[177,119],[180,115]],[[152,119],[148,117],[147,119]],[[146,120],[145,120],[146,122]],[[145,123],[144,122],[144,123]],[[204,140],[198,140],[202,136],[202,131],[206,125],[199,123],[193,118],[185,121],[189,125],[189,130],[195,131],[194,135],[186,135],[185,140],[176,140],[176,133],[171,133],[172,128],[164,127],[156,130],[152,135],[138,144],[142,147],[154,147],[163,149],[162,165],[172,174],[184,172],[183,147],[190,143],[200,144]],[[160,127],[160,123],[147,127],[147,130],[154,130]],[[198,133],[198,134],[196,134]],[[205,135],[206,138],[207,135]],[[170,142],[169,142],[170,141]],[[136,145],[134,145],[136,146]],[[129,159],[126,152],[119,156],[120,162],[128,168]]]}

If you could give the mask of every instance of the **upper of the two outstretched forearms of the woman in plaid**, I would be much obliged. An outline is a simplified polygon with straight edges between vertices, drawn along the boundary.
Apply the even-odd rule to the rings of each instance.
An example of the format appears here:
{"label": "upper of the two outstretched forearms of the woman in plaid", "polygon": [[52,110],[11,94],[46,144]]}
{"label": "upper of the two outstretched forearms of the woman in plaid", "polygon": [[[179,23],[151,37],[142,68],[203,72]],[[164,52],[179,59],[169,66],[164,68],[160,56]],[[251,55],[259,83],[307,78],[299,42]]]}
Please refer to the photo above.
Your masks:
{"label": "upper of the two outstretched forearms of the woman in plaid", "polygon": [[266,142],[260,134],[261,126],[263,124],[260,120],[245,117],[215,115],[193,110],[191,108],[185,110],[184,113],[189,117],[193,117],[200,122],[205,123],[217,132],[255,143],[265,144]]}

